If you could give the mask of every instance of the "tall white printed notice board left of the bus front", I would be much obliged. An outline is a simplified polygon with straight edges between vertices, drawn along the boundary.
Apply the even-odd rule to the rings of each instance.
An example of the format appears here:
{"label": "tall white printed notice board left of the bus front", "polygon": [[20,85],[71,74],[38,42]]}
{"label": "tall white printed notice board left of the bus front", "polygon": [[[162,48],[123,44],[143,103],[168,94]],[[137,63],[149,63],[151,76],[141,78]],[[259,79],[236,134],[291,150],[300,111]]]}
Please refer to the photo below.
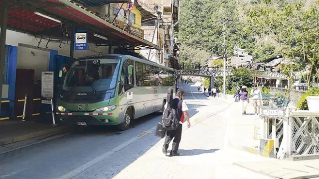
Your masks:
{"label": "tall white printed notice board left of the bus front", "polygon": [[54,87],[54,75],[53,72],[42,72],[41,80],[41,96],[42,104],[51,104],[50,98],[53,98],[53,87]]}

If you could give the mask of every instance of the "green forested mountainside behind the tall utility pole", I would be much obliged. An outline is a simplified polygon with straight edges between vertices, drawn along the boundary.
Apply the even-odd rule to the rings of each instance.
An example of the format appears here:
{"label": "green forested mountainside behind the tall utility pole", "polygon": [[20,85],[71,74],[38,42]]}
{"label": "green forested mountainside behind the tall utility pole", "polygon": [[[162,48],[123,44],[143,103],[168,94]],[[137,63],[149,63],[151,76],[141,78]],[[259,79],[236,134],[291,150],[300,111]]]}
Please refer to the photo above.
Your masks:
{"label": "green forested mountainside behind the tall utility pole", "polygon": [[[283,9],[293,0],[181,0],[178,40],[180,56],[188,62],[203,63],[211,55],[222,56],[222,24],[218,20],[234,20],[226,24],[227,57],[237,45],[253,52],[254,61],[277,55],[278,43],[268,35],[256,32],[249,14],[271,1],[274,8]],[[299,0],[294,0],[299,1]],[[303,0],[306,7],[316,0]]]}

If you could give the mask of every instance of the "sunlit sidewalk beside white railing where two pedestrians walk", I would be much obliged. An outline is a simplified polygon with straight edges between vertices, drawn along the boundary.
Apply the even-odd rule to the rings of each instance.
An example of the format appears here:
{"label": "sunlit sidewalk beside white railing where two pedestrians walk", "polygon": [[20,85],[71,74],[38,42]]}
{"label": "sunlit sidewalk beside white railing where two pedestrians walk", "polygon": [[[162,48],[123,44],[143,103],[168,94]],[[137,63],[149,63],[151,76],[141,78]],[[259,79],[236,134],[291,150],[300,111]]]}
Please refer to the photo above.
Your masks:
{"label": "sunlit sidewalk beside white railing where two pedestrians walk", "polygon": [[[259,140],[257,130],[259,127],[259,116],[253,115],[252,104],[247,105],[248,115],[241,115],[241,105],[234,102],[232,96],[220,100],[231,103],[232,112],[228,115],[228,145],[226,148],[234,148],[256,153],[258,151]],[[251,115],[250,115],[251,114]],[[256,127],[255,127],[256,125]],[[256,157],[260,157],[256,155]],[[269,159],[264,157],[263,161],[234,162],[234,165],[245,169],[279,179],[309,179],[319,177],[319,160],[289,161],[288,159]]]}

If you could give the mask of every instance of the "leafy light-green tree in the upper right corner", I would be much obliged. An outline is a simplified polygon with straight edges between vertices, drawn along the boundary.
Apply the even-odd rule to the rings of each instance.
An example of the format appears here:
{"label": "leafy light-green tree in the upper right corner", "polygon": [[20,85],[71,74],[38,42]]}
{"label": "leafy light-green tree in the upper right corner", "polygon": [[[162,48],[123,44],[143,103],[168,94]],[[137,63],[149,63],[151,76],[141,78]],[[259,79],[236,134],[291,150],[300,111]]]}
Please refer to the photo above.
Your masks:
{"label": "leafy light-green tree in the upper right corner", "polygon": [[290,87],[298,78],[311,86],[319,77],[319,0],[309,7],[301,2],[281,7],[276,1],[264,0],[250,11],[249,21],[257,35],[268,35],[279,44]]}

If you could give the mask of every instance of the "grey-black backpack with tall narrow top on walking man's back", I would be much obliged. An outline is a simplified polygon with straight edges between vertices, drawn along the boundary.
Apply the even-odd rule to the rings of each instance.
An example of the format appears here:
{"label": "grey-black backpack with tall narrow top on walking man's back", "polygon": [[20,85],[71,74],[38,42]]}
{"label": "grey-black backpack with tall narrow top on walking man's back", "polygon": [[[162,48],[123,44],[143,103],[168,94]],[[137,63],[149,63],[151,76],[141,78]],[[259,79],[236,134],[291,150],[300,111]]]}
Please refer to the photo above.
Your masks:
{"label": "grey-black backpack with tall narrow top on walking man's back", "polygon": [[175,130],[179,124],[179,117],[176,109],[172,108],[173,89],[169,88],[166,96],[167,107],[163,111],[162,126],[165,130]]}

